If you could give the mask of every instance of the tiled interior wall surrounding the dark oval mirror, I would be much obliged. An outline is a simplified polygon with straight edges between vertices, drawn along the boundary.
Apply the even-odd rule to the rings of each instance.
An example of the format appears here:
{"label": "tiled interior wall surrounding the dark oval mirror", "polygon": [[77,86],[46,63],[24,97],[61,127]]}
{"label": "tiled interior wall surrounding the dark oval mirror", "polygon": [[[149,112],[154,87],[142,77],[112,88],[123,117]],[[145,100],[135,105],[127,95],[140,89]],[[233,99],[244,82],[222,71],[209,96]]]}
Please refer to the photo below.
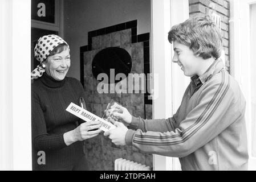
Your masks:
{"label": "tiled interior wall surrounding the dark oval mirror", "polygon": [[[120,24],[117,24],[111,31],[107,29],[102,31],[102,35],[96,35],[98,31],[90,32],[92,35],[90,45],[85,46],[83,54],[83,65],[84,65],[84,90],[85,90],[85,101],[87,110],[99,117],[103,117],[104,110],[107,108],[108,103],[112,100],[119,102],[121,105],[126,107],[132,115],[135,117],[152,119],[152,100],[148,100],[148,96],[143,92],[143,84],[141,81],[134,80],[134,84],[141,85],[139,89],[131,88],[131,78],[125,78],[117,84],[113,84],[114,88],[117,88],[121,84],[122,93],[118,90],[113,90],[115,93],[111,93],[111,86],[108,85],[106,88],[107,92],[99,93],[99,82],[92,74],[92,60],[95,55],[103,49],[109,47],[120,47],[123,51],[131,57],[131,73],[141,74],[150,73],[149,71],[149,36],[145,34],[134,35],[134,30],[137,28],[137,22],[125,23],[125,29],[119,30]],[[131,28],[128,28],[131,27]],[[124,26],[123,26],[124,28]],[[102,30],[102,29],[101,29]],[[117,31],[116,31],[117,30]],[[103,32],[107,32],[104,33]],[[149,34],[147,34],[149,35]],[[90,38],[89,38],[90,39]],[[87,48],[90,50],[87,50]],[[102,52],[101,52],[102,53]],[[121,55],[120,55],[121,56]],[[106,63],[108,60],[104,60]],[[102,65],[103,68],[104,65]],[[97,67],[97,66],[96,66]],[[101,67],[101,65],[99,65]],[[146,81],[146,80],[144,80]],[[125,86],[126,85],[126,86]],[[147,85],[147,84],[146,84]],[[120,86],[118,86],[120,88]],[[120,91],[121,91],[120,90]],[[134,92],[134,91],[137,92]],[[151,90],[148,90],[152,93]],[[149,167],[153,166],[152,154],[146,154],[133,146],[116,146],[111,143],[111,140],[104,137],[103,134],[99,134],[96,137],[86,140],[84,144],[84,154],[88,163],[88,170],[94,171],[109,171],[115,169],[116,159],[127,159],[135,163],[140,163]]]}

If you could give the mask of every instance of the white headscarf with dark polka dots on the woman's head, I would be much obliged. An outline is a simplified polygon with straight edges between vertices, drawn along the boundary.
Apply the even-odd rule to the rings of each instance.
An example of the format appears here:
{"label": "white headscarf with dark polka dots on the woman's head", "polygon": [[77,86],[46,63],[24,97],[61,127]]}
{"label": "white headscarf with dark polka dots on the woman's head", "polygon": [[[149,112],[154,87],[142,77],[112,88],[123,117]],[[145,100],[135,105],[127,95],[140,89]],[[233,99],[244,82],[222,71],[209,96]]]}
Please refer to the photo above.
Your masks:
{"label": "white headscarf with dark polka dots on the woman's head", "polygon": [[[67,44],[58,35],[44,35],[42,38],[38,39],[34,48],[34,56],[36,60],[40,62],[40,64],[31,72],[31,79],[38,78],[43,75],[45,65],[42,64],[42,62],[46,60],[48,55],[55,47],[63,43]],[[70,48],[68,44],[67,47]]]}

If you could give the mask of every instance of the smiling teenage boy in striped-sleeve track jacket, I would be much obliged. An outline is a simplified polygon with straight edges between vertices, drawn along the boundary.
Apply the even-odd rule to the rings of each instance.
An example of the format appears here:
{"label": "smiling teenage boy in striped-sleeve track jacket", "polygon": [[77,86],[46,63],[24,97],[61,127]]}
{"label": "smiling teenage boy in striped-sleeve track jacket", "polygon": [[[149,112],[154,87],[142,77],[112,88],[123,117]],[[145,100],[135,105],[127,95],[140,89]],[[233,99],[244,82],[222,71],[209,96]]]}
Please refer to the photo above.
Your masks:
{"label": "smiling teenage boy in striped-sleeve track jacket", "polygon": [[[180,107],[168,119],[114,115],[128,123],[104,133],[116,145],[177,157],[182,170],[246,170],[245,98],[237,81],[224,69],[222,36],[209,16],[193,16],[173,26],[173,63],[191,77]],[[178,78],[177,78],[178,79]],[[135,130],[132,130],[135,129]]]}

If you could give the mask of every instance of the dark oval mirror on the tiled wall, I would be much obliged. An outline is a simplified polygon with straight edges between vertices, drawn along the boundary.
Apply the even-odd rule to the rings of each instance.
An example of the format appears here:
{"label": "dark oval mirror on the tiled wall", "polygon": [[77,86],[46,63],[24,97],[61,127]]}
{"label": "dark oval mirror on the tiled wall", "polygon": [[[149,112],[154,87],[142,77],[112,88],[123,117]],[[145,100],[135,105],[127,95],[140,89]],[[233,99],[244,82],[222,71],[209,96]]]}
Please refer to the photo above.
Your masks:
{"label": "dark oval mirror on the tiled wall", "polygon": [[[119,47],[108,47],[99,51],[92,60],[92,74],[97,79],[100,73],[108,76],[108,84],[113,84],[121,80],[116,80],[116,75],[124,73],[127,77],[132,69],[132,58],[129,53]],[[112,73],[111,73],[112,72]],[[111,74],[115,75],[111,79]],[[99,81],[106,81],[104,79]]]}

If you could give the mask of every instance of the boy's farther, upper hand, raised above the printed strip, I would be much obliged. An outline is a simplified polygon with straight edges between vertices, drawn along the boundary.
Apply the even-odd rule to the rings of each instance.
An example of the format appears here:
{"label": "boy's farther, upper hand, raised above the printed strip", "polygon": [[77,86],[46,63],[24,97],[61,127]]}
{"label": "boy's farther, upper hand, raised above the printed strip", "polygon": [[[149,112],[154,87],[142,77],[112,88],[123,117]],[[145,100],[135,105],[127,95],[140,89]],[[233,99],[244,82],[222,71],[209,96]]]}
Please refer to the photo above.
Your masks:
{"label": "boy's farther, upper hand, raised above the printed strip", "polygon": [[116,106],[115,108],[109,109],[108,113],[112,113],[113,116],[122,119],[124,122],[128,124],[131,124],[132,122],[132,115],[125,107]]}

